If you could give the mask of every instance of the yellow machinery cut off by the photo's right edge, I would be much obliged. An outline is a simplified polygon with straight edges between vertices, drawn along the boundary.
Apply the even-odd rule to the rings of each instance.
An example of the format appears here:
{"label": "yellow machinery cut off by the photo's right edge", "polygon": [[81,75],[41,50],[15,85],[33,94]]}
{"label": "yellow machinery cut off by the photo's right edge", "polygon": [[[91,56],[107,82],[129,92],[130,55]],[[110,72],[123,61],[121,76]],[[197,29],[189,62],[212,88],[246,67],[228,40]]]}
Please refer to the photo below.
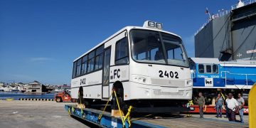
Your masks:
{"label": "yellow machinery cut off by the photo's right edge", "polygon": [[256,127],[256,82],[249,93],[249,127]]}

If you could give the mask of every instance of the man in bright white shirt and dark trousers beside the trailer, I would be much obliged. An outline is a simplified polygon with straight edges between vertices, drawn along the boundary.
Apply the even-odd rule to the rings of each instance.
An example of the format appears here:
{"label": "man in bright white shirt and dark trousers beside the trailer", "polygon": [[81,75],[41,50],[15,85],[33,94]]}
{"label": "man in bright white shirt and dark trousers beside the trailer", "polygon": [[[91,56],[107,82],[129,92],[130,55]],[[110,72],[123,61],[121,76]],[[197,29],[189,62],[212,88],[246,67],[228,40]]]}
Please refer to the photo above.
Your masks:
{"label": "man in bright white shirt and dark trousers beside the trailer", "polygon": [[238,101],[233,98],[233,94],[228,94],[228,99],[226,100],[228,105],[228,120],[231,122],[235,122],[235,112],[238,110]]}

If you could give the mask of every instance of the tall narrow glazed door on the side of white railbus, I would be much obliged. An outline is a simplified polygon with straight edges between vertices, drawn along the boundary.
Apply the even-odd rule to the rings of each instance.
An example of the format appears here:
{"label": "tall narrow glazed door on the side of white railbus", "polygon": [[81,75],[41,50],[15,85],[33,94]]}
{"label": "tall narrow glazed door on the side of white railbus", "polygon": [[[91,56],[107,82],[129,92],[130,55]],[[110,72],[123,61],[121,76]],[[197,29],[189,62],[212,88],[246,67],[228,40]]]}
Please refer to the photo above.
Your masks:
{"label": "tall narrow glazed door on the side of white railbus", "polygon": [[104,51],[104,63],[102,70],[102,99],[110,97],[110,55],[111,46]]}

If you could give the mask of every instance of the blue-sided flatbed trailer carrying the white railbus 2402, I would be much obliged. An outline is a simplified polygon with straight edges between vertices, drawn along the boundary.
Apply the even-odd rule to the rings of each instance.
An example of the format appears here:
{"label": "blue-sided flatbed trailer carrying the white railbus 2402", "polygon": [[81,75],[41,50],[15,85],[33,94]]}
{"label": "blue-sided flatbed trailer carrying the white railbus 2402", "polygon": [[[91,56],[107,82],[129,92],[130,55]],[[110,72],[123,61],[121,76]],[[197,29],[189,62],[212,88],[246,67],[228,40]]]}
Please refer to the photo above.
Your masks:
{"label": "blue-sided flatbed trailer carrying the white railbus 2402", "polygon": [[[95,124],[98,127],[123,127],[120,117],[112,117],[110,112],[102,114],[101,110],[80,109],[75,105],[65,105],[70,116],[78,117],[86,122]],[[99,115],[102,117],[99,119]],[[124,121],[124,127],[129,127],[129,122]],[[172,117],[142,117],[131,119],[130,127],[248,127],[247,124],[228,122],[218,119],[199,119],[197,117],[183,117],[176,115]]]}

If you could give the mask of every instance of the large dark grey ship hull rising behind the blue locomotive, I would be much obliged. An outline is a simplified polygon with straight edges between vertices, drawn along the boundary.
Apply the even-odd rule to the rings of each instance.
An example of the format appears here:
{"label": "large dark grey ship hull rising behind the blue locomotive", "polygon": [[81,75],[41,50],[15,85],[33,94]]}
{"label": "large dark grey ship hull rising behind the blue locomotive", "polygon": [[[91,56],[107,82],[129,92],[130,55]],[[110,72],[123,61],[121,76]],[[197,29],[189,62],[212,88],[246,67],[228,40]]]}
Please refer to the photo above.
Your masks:
{"label": "large dark grey ship hull rising behind the blue locomotive", "polygon": [[256,0],[239,1],[209,17],[195,33],[196,58],[256,60]]}

